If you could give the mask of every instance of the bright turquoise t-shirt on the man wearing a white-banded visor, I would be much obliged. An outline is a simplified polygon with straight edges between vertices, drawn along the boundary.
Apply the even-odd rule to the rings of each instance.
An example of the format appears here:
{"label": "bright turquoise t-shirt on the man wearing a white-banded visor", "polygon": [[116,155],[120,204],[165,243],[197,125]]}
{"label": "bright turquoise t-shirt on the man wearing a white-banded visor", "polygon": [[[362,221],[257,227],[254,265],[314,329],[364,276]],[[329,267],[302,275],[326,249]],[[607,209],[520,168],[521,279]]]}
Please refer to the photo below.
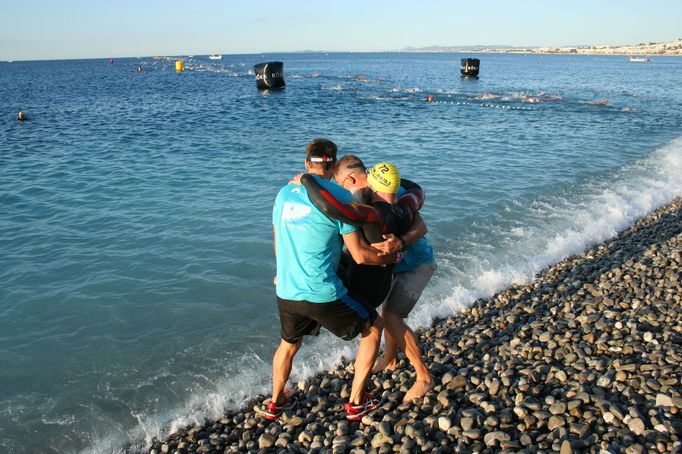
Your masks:
{"label": "bright turquoise t-shirt on the man wearing a white-banded visor", "polygon": [[[352,202],[341,186],[313,175],[337,200]],[[357,227],[328,218],[313,205],[304,186],[283,187],[272,210],[277,254],[277,296],[328,303],[347,290],[336,275],[345,235]]]}

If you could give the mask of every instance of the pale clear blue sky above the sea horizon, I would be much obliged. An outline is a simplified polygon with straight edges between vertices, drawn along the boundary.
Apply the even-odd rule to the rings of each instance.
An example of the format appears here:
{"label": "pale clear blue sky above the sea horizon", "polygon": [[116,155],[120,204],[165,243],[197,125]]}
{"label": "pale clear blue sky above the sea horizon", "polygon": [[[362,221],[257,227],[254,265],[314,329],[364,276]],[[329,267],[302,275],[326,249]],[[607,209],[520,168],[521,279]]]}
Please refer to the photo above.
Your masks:
{"label": "pale clear blue sky above the sea horizon", "polygon": [[681,0],[0,0],[0,60],[678,38]]}

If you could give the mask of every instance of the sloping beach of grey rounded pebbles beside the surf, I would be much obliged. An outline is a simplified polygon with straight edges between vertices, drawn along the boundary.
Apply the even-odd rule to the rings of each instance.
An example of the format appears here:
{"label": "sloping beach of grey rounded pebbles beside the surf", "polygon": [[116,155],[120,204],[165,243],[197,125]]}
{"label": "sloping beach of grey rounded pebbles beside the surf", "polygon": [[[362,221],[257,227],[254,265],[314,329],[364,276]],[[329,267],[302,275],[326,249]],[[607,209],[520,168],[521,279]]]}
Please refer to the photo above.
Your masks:
{"label": "sloping beach of grey rounded pebbles beside the surf", "polygon": [[375,375],[382,406],[344,420],[352,365],[294,385],[277,422],[254,399],[150,453],[677,452],[682,450],[682,199],[421,331],[437,386],[403,404],[404,362]]}

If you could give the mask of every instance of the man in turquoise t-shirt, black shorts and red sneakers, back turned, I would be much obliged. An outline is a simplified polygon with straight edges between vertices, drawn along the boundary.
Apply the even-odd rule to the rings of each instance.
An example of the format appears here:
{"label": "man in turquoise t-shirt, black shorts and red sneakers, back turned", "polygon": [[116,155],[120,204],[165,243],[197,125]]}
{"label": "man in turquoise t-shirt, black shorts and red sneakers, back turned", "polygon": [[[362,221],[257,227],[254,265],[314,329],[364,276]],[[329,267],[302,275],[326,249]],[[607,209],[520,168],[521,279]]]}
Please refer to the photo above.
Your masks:
{"label": "man in turquoise t-shirt, black shorts and red sneakers, back turned", "polygon": [[[305,167],[337,200],[352,201],[348,191],[328,181],[336,153],[333,142],[315,139],[306,147]],[[293,406],[284,394],[284,386],[294,356],[304,335],[315,336],[324,327],[344,340],[362,335],[350,399],[344,405],[347,419],[359,420],[379,403],[364,390],[379,351],[383,325],[376,311],[348,294],[336,271],[343,244],[358,263],[393,263],[396,255],[380,257],[356,227],[333,220],[318,210],[304,186],[289,184],[280,190],[272,223],[282,341],[273,358],[272,399],[262,414],[274,420]]]}

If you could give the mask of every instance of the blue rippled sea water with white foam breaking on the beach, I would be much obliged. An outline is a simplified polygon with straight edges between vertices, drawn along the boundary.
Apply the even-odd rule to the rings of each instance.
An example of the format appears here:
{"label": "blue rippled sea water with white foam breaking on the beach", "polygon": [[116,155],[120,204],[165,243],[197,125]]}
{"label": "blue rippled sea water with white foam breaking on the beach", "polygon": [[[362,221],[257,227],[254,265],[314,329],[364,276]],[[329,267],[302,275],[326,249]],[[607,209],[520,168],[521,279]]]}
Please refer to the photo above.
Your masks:
{"label": "blue rippled sea water with white foam breaking on the beach", "polygon": [[[465,56],[0,63],[0,452],[123,452],[269,392],[272,204],[314,137],[425,188],[415,327],[682,195],[681,58]],[[306,340],[292,379],[354,349]]]}

